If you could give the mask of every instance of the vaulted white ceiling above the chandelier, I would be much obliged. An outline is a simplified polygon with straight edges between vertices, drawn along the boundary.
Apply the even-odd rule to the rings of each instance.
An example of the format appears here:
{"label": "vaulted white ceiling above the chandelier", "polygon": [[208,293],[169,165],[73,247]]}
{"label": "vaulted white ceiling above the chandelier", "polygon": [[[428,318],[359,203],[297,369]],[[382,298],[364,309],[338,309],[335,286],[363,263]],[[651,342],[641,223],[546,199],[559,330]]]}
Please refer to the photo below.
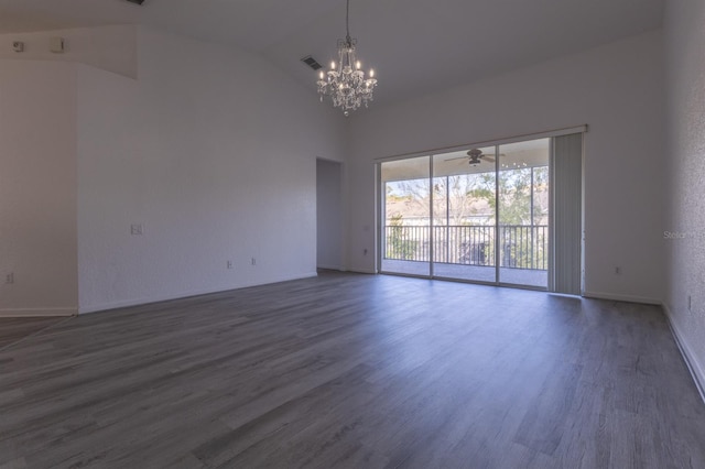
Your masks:
{"label": "vaulted white ceiling above the chandelier", "polygon": [[[350,0],[350,33],[390,102],[657,29],[664,0]],[[0,33],[147,24],[260,54],[315,91],[301,63],[335,58],[345,0],[0,0]]]}

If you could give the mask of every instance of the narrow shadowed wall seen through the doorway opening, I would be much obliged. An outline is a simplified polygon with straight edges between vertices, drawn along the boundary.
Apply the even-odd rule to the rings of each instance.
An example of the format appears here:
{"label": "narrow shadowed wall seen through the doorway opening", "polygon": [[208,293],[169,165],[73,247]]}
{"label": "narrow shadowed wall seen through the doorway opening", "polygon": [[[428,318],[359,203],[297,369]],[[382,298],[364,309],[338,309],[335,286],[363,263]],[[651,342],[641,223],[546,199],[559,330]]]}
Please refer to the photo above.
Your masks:
{"label": "narrow shadowed wall seen through the doorway opening", "polygon": [[343,165],[316,161],[317,266],[343,270]]}

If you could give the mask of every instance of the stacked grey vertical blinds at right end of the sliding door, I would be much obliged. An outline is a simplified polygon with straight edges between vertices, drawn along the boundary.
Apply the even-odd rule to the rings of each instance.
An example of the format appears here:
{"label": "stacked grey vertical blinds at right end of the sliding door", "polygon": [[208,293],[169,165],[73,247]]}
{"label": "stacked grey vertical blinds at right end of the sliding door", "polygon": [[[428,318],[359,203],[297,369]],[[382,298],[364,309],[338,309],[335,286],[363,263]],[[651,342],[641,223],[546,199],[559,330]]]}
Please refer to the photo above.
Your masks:
{"label": "stacked grey vertical blinds at right end of the sliding door", "polygon": [[553,291],[582,294],[583,133],[553,140]]}

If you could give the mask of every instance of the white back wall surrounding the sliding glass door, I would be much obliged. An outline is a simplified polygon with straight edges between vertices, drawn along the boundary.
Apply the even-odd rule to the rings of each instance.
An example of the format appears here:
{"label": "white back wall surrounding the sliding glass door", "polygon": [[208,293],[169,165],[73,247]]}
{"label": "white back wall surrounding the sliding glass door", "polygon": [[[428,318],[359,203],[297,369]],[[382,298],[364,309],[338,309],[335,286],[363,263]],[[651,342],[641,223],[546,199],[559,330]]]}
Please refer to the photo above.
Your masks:
{"label": "white back wall surrounding the sliding glass door", "polygon": [[362,255],[375,246],[373,159],[588,123],[586,292],[660,302],[662,66],[662,32],[654,31],[354,116],[349,269],[375,266]]}

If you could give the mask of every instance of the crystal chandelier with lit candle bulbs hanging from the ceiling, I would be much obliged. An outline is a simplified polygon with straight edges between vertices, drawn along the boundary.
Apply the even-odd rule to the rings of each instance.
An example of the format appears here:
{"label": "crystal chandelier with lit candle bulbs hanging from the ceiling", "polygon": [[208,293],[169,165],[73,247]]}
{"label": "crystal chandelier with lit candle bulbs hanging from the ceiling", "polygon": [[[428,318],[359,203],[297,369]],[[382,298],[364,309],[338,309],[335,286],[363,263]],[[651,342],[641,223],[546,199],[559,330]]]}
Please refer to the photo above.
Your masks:
{"label": "crystal chandelier with lit candle bulbs hanging from the ceiling", "polygon": [[361,105],[368,106],[377,85],[375,70],[370,69],[369,78],[366,79],[365,72],[361,69],[362,64],[356,57],[357,40],[350,37],[349,18],[350,0],[347,0],[345,13],[347,34],[344,40],[338,40],[338,63],[332,62],[327,73],[322,70],[317,81],[321,102],[324,97],[329,96],[333,106],[343,109],[346,117]]}

